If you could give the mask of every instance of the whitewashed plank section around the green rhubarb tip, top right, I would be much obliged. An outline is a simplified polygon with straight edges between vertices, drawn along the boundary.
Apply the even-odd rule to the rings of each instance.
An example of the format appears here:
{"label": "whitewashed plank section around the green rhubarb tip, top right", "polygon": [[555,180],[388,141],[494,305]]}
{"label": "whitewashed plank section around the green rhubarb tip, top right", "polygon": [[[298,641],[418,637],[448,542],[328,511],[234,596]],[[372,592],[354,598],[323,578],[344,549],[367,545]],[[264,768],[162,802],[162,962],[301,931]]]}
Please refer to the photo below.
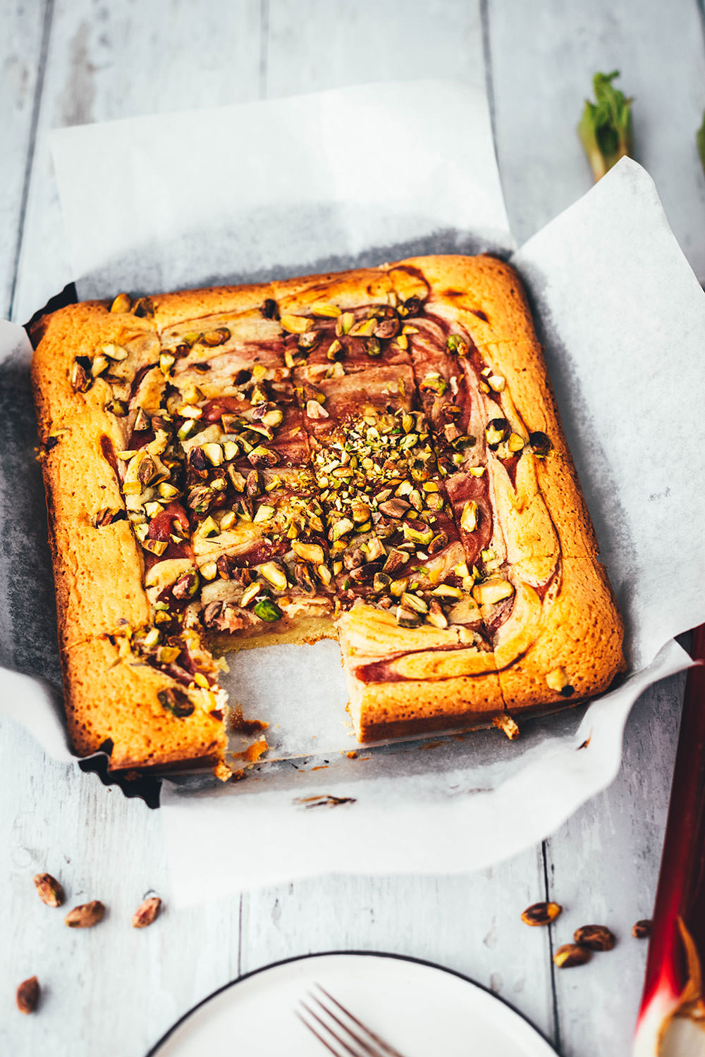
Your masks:
{"label": "whitewashed plank section around the green rhubarb tip, top right", "polygon": [[635,157],[705,279],[705,178],[695,129],[705,107],[697,0],[499,0],[488,7],[496,142],[507,210],[521,244],[591,184],[575,127],[596,71],[620,70],[634,96]]}

